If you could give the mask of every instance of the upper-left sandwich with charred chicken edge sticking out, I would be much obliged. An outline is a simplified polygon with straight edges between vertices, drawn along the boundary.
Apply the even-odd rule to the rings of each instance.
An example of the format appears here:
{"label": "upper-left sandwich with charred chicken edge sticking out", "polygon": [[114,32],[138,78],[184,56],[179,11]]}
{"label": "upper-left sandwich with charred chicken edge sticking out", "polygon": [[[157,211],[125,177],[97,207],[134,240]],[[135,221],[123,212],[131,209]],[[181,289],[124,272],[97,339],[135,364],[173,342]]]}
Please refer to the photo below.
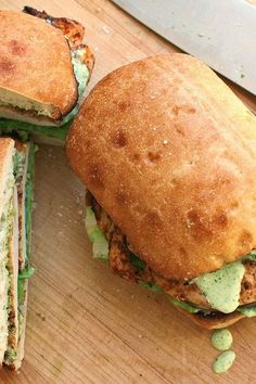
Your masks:
{"label": "upper-left sandwich with charred chicken edge sticking out", "polygon": [[0,135],[64,140],[94,64],[85,28],[30,7],[1,10],[0,24]]}

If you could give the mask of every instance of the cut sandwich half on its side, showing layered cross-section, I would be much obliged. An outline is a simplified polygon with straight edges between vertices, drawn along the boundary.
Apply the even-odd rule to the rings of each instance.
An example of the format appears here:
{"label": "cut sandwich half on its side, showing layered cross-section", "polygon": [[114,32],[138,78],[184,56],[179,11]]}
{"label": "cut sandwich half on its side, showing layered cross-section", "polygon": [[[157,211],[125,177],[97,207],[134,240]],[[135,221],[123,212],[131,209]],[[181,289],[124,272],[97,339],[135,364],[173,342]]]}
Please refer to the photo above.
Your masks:
{"label": "cut sandwich half on its side, showing layered cross-section", "polygon": [[33,143],[0,139],[0,361],[18,370],[24,357],[34,178]]}

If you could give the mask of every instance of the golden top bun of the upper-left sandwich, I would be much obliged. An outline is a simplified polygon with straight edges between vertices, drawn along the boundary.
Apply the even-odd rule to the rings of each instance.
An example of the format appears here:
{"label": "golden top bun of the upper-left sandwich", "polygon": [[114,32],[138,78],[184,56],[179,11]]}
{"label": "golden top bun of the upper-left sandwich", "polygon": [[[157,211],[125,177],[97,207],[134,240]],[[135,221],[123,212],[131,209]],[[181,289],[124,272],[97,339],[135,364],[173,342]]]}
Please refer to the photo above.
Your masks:
{"label": "golden top bun of the upper-left sandwich", "polygon": [[1,89],[53,106],[61,119],[76,104],[77,81],[61,29],[14,10],[0,11]]}

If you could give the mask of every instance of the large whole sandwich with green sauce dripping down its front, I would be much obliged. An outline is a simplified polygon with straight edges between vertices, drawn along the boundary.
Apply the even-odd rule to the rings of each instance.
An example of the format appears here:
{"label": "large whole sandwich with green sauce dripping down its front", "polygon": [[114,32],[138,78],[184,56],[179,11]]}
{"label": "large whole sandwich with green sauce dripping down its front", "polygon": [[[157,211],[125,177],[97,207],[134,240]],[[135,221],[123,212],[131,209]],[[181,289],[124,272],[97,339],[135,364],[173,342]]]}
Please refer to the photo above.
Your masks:
{"label": "large whole sandwich with green sauce dripping down its front", "polygon": [[255,316],[255,145],[254,114],[195,57],[108,74],[66,141],[94,257],[207,329]]}

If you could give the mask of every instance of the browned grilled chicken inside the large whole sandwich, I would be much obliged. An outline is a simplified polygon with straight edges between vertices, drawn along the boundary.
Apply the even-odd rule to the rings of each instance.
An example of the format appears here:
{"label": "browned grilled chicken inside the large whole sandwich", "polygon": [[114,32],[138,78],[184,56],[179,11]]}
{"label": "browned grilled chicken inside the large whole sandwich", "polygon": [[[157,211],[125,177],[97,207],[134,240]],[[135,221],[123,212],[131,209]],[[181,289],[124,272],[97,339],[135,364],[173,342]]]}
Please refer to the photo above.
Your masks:
{"label": "browned grilled chicken inside the large whole sandwich", "polygon": [[[135,282],[155,282],[170,296],[180,302],[188,302],[202,309],[209,309],[210,305],[195,283],[189,281],[168,280],[158,276],[149,266],[143,268],[131,263],[132,252],[129,249],[126,236],[120,229],[114,225],[111,217],[98,204],[90,192],[87,192],[87,205],[92,206],[95,219],[100,229],[104,232],[110,247],[110,266],[112,270],[121,278]],[[248,305],[256,302],[256,263],[245,260],[245,273],[241,284],[240,305]]]}

